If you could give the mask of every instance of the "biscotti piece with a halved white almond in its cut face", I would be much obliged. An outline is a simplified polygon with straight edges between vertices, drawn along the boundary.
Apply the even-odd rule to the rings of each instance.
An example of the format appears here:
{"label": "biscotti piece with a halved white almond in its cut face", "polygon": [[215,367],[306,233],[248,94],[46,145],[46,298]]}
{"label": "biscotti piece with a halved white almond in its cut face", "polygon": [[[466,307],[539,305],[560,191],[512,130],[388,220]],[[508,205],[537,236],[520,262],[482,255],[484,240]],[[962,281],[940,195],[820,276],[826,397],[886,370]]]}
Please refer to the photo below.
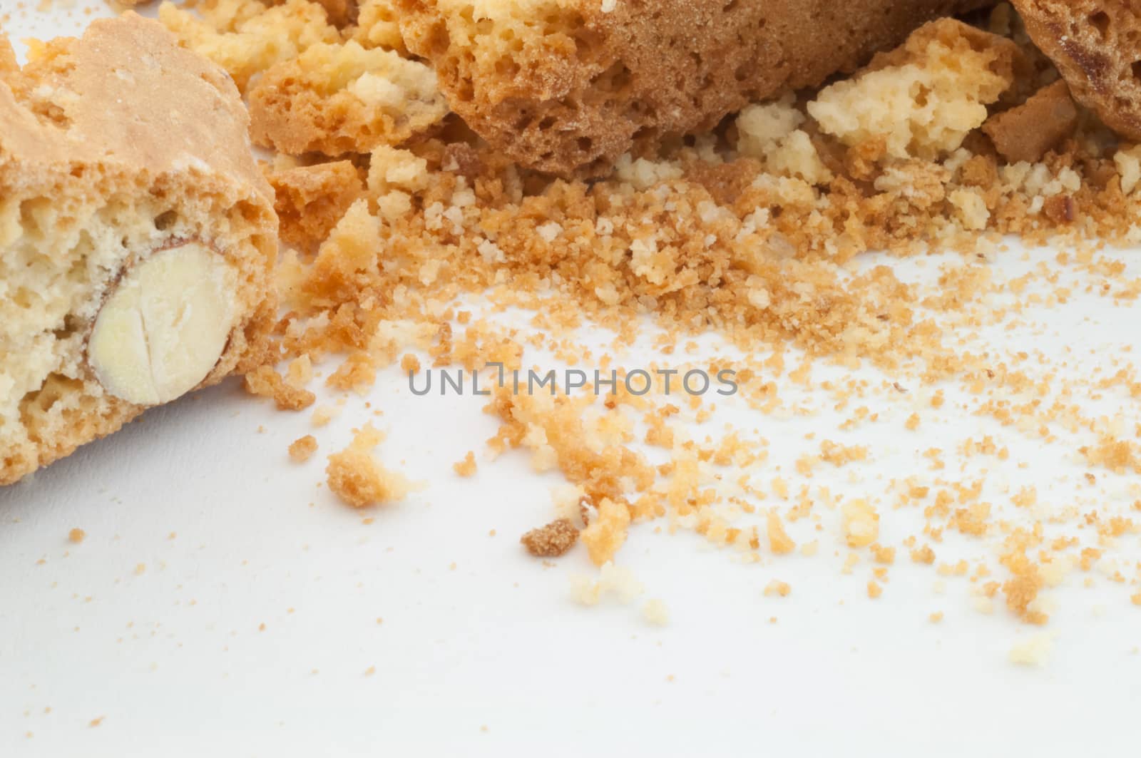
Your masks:
{"label": "biscotti piece with a halved white almond in its cut face", "polygon": [[224,71],[128,14],[0,38],[0,484],[258,361],[277,221]]}

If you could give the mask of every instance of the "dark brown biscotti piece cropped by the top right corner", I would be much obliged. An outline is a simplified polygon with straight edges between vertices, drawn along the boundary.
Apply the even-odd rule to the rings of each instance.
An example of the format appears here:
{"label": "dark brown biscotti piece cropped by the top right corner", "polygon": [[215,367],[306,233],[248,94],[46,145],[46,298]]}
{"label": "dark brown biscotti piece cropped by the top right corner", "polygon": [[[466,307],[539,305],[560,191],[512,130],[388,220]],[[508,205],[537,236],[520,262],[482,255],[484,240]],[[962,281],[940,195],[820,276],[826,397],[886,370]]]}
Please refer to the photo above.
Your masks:
{"label": "dark brown biscotti piece cropped by the top right corner", "polygon": [[1014,0],[1034,42],[1074,97],[1130,139],[1141,139],[1141,3]]}

